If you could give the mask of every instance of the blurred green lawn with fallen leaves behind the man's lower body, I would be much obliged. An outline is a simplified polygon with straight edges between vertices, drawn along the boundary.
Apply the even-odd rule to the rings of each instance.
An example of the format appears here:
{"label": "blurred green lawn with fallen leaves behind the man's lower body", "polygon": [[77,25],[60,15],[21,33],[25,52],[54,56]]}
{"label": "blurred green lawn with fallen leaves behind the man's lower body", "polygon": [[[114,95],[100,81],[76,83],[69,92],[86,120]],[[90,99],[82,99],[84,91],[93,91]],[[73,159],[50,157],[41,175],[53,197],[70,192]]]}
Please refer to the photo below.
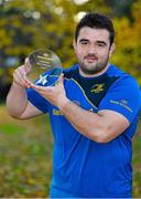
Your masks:
{"label": "blurred green lawn with fallen leaves behind the man's lower body", "polygon": [[[0,106],[0,198],[48,196],[52,143],[46,116],[20,122]],[[133,197],[141,197],[141,124],[133,139]]]}

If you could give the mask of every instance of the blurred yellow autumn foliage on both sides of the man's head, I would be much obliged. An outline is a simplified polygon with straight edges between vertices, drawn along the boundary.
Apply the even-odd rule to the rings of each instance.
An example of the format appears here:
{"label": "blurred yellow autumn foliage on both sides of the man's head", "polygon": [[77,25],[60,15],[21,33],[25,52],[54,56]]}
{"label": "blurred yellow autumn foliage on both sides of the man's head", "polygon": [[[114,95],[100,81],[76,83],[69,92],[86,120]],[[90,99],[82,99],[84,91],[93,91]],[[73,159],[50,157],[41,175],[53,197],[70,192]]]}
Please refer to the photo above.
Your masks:
{"label": "blurred yellow autumn foliage on both sides of the man's head", "polygon": [[[0,48],[8,56],[26,56],[30,51],[47,48],[61,56],[64,65],[69,66],[76,62],[72,46],[75,15],[97,11],[96,8],[102,13],[111,13],[110,7],[102,0],[80,6],[73,0],[8,1],[4,10],[10,12],[0,20]],[[141,1],[137,0],[132,3],[132,22],[126,17],[113,19],[117,48],[111,61],[135,76],[141,65],[140,10]],[[33,17],[34,12],[40,13],[39,19]]]}

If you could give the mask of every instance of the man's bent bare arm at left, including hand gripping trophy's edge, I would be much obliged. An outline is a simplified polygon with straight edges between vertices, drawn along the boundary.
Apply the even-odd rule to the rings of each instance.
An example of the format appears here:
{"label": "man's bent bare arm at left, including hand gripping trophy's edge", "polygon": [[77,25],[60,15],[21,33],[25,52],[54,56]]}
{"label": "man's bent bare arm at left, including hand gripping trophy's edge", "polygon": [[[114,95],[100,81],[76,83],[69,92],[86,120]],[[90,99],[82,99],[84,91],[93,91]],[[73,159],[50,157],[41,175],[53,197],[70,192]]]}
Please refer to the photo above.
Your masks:
{"label": "man's bent bare arm at left, including hand gripping trophy's edge", "polygon": [[7,109],[14,118],[25,119],[42,114],[28,101],[26,87],[31,87],[31,82],[26,75],[30,71],[31,65],[26,59],[24,65],[19,66],[13,74],[13,84],[7,96]]}

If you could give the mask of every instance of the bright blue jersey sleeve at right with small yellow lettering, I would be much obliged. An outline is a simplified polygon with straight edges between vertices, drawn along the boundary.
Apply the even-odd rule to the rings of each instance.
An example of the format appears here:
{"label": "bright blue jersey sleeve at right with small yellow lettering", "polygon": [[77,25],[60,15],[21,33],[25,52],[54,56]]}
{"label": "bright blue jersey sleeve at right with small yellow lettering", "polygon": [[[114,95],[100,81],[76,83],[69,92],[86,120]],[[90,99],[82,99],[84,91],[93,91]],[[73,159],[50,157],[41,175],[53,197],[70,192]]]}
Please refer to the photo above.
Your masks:
{"label": "bright blue jersey sleeve at right with small yellow lettering", "polygon": [[128,76],[113,83],[98,109],[118,112],[132,123],[141,111],[141,91],[135,80]]}

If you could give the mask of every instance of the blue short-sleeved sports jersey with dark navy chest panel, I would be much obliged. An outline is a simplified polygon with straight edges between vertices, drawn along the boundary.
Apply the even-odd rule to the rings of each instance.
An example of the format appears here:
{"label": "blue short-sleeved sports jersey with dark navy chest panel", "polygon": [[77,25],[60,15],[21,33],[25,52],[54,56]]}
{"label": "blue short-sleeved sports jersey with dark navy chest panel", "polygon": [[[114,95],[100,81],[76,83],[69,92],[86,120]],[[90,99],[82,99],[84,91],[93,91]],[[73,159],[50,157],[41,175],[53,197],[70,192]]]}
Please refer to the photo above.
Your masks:
{"label": "blue short-sleeved sports jersey with dark navy chest panel", "polygon": [[66,96],[82,108],[94,113],[118,112],[130,126],[109,143],[96,143],[77,132],[57,107],[29,88],[29,101],[51,118],[54,136],[52,188],[73,197],[130,198],[131,140],[141,106],[135,80],[111,64],[97,77],[83,77],[76,64],[64,70],[64,86]]}

